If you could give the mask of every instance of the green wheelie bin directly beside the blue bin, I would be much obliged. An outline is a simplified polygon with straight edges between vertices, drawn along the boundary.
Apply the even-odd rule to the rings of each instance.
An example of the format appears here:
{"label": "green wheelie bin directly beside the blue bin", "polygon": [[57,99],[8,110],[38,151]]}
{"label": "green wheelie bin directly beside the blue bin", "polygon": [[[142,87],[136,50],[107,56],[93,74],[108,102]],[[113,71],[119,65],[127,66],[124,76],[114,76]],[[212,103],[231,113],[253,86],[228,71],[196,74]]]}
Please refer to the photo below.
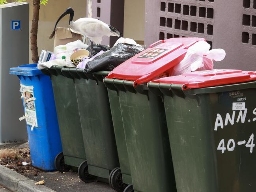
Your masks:
{"label": "green wheelie bin directly beside the blue bin", "polygon": [[63,148],[63,153],[55,158],[56,169],[60,172],[68,171],[70,166],[75,170],[86,161],[75,84],[73,79],[63,75],[63,68],[54,65],[41,70],[52,81]]}

